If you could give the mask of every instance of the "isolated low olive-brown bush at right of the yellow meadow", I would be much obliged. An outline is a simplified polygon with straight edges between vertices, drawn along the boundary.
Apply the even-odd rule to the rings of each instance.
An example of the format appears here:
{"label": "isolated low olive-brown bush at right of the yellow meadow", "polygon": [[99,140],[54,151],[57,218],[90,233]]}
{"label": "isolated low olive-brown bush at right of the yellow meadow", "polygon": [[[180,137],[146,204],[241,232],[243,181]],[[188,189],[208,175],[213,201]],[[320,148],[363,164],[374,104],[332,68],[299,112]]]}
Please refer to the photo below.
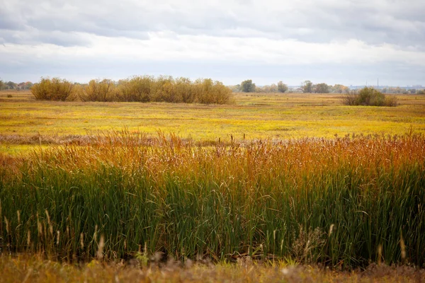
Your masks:
{"label": "isolated low olive-brown bush at right of the yellow meadow", "polygon": [[358,93],[347,93],[343,98],[345,105],[396,106],[397,98],[386,98],[375,88],[362,88]]}

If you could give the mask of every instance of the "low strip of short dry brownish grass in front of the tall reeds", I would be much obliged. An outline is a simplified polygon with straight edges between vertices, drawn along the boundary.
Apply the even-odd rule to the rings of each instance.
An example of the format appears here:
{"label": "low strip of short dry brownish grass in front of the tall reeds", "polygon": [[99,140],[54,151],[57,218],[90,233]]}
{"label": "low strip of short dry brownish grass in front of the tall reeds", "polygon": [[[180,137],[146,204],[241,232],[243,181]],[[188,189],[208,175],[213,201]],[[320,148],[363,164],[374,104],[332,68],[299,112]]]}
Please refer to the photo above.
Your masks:
{"label": "low strip of short dry brownish grass in front of the tall reeds", "polygon": [[143,260],[85,264],[58,263],[37,257],[0,257],[1,282],[424,282],[425,270],[412,266],[370,265],[366,270],[339,272],[283,263],[164,262]]}

